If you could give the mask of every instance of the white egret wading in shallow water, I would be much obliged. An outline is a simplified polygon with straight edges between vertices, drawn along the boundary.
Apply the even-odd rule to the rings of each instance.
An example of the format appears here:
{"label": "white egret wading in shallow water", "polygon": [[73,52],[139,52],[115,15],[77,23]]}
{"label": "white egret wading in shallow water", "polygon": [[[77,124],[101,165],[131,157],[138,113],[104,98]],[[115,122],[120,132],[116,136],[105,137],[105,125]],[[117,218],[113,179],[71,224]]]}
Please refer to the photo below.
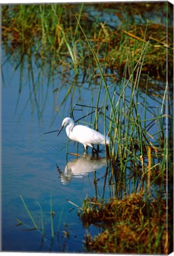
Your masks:
{"label": "white egret wading in shallow water", "polygon": [[70,117],[65,117],[62,122],[61,128],[57,133],[57,136],[60,134],[63,127],[66,127],[67,136],[71,140],[80,142],[84,146],[84,151],[86,152],[87,146],[90,146],[94,149],[93,145],[109,145],[109,137],[102,135],[96,130],[91,129],[90,127],[83,126],[78,124],[74,126],[74,121]]}

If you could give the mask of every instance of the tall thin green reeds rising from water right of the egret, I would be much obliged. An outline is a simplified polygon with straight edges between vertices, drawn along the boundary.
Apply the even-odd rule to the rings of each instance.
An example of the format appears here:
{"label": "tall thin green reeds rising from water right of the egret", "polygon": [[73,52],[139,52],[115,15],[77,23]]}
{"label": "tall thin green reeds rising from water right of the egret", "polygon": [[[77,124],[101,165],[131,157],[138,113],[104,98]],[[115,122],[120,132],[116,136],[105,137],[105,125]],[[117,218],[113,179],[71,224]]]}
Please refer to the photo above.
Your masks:
{"label": "tall thin green reeds rising from water right of the egret", "polygon": [[[120,82],[120,91],[117,92],[116,85],[113,85],[113,91],[110,92],[107,86],[106,79],[104,77],[104,69],[101,68],[99,63],[99,59],[94,52],[93,47],[91,46],[90,41],[88,40],[87,34],[85,33],[83,27],[81,27],[80,22],[77,19],[79,27],[84,34],[84,37],[87,41],[87,45],[93,54],[94,60],[96,61],[96,65],[98,67],[98,71],[100,73],[101,83],[103,82],[104,88],[106,90],[105,97],[105,107],[104,107],[104,131],[106,131],[106,124],[109,127],[109,136],[110,136],[110,160],[111,160],[111,176],[114,180],[114,169],[116,169],[117,164],[119,164],[119,172],[120,172],[120,183],[124,184],[126,191],[126,177],[127,170],[130,168],[130,161],[132,162],[132,168],[137,172],[137,175],[142,178],[138,178],[138,180],[134,180],[137,183],[136,190],[140,187],[145,188],[145,181],[150,179],[149,185],[154,187],[156,183],[156,178],[152,178],[153,175],[148,176],[148,162],[146,161],[148,155],[148,148],[152,148],[150,151],[149,161],[152,159],[152,166],[150,166],[150,170],[154,173],[157,169],[160,169],[160,174],[157,177],[162,178],[166,171],[166,143],[163,143],[163,146],[159,144],[166,140],[165,135],[165,127],[163,126],[163,121],[166,119],[166,115],[163,114],[165,111],[166,105],[166,92],[168,90],[168,86],[166,85],[165,94],[163,95],[162,105],[160,113],[158,111],[151,110],[147,105],[147,95],[148,95],[148,81],[149,76],[147,76],[146,80],[146,94],[145,94],[145,103],[142,103],[140,100],[141,94],[139,90],[140,80],[142,79],[142,68],[146,61],[146,55],[149,48],[149,41],[145,43],[145,40],[142,42],[142,49],[139,53],[138,62],[134,61],[132,56],[131,60],[127,59],[127,65],[124,69],[124,77],[122,82]],[[147,26],[146,26],[147,30]],[[145,35],[146,35],[145,30]],[[125,42],[124,42],[125,43]],[[129,39],[127,39],[127,44],[129,44]],[[135,46],[134,46],[135,47]],[[130,51],[131,52],[131,51]],[[135,50],[133,54],[136,54]],[[107,53],[105,53],[105,58]],[[129,66],[132,68],[129,69]],[[132,70],[132,71],[131,71]],[[127,73],[129,73],[129,78],[127,79]],[[96,108],[99,107],[100,101],[100,90],[101,83],[99,86],[99,93],[96,100]],[[131,92],[129,98],[127,98],[125,92],[127,87],[130,86]],[[106,119],[106,105],[109,102],[110,114],[109,119]],[[140,116],[139,112],[142,111],[143,115]],[[99,113],[96,111],[97,116],[95,120],[99,118]],[[147,119],[146,116],[148,113],[152,113],[152,119]],[[144,117],[144,119],[143,119]],[[154,134],[150,134],[150,127],[156,126],[158,131]],[[148,129],[147,129],[148,127]],[[152,141],[156,137],[156,135],[161,135],[159,138],[159,142]],[[161,148],[162,146],[162,148]],[[143,174],[143,175],[142,175]],[[149,177],[149,178],[148,178]],[[163,177],[164,178],[164,177]],[[163,185],[165,186],[165,180],[163,180]],[[116,181],[118,183],[118,181]],[[144,187],[145,186],[145,187]]]}

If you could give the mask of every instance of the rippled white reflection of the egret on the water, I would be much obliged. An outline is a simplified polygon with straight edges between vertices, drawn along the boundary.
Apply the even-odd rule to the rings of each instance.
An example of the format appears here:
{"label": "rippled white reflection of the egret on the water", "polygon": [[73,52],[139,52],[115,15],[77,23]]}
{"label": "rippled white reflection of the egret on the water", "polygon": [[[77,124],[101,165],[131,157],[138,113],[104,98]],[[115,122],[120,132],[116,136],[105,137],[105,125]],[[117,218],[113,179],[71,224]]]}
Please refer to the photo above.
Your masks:
{"label": "rippled white reflection of the egret on the water", "polygon": [[74,159],[67,163],[65,166],[65,171],[62,172],[57,166],[58,172],[61,176],[61,183],[68,184],[72,180],[73,176],[77,178],[82,178],[86,176],[89,172],[101,169],[106,165],[106,158],[94,157],[90,155],[83,155],[81,158]]}

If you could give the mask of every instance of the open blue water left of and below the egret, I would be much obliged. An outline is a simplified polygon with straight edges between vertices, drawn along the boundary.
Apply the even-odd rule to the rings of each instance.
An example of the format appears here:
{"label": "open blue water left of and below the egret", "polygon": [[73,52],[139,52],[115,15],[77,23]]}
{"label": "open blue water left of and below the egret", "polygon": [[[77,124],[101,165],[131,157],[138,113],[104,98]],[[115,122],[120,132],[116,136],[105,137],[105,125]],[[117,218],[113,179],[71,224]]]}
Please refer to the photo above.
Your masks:
{"label": "open blue water left of and below the egret", "polygon": [[[28,98],[27,84],[22,88],[18,110],[14,113],[18,99],[19,71],[16,71],[11,78],[8,73],[12,73],[12,66],[6,64],[3,72],[5,86],[2,87],[2,249],[4,251],[83,251],[82,241],[86,231],[78,219],[77,209],[74,209],[74,205],[67,200],[81,206],[81,201],[87,195],[103,196],[106,173],[104,151],[99,157],[92,157],[89,149],[88,155],[84,156],[83,146],[79,145],[80,157],[67,156],[65,130],[58,137],[56,133],[43,135],[50,129],[51,113],[54,108],[52,95],[50,94],[50,98],[48,96],[42,124],[38,121],[37,111],[31,114],[30,105],[21,116],[20,110],[24,108]],[[67,89],[64,89],[64,94],[66,91]],[[67,113],[67,108],[64,112]],[[58,116],[54,128],[58,129],[60,125],[61,117]],[[73,142],[68,143],[68,152],[77,152],[77,146]],[[97,179],[96,187],[93,184],[94,175]],[[52,245],[50,193],[52,209],[55,212],[55,238]],[[44,241],[40,232],[25,231],[33,228],[33,225],[20,195],[24,198],[39,228],[41,228],[41,213],[36,202],[41,204],[45,223]],[[108,195],[109,191],[106,189],[106,196]],[[17,218],[24,225],[17,226]],[[59,222],[60,229],[57,232]],[[64,231],[67,231],[70,237],[65,238]],[[57,235],[61,246],[57,241]],[[66,240],[65,247],[63,247],[64,240]]]}

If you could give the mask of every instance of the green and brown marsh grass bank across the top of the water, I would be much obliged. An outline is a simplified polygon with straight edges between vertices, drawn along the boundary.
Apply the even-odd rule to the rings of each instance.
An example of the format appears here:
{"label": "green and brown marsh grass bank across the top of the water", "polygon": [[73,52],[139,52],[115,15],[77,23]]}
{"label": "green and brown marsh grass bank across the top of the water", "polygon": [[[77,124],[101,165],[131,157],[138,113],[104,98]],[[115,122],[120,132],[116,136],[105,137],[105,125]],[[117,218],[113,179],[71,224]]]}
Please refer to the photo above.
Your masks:
{"label": "green and brown marsh grass bank across the top of the water", "polygon": [[[113,79],[115,70],[123,73],[127,58],[131,60],[132,66],[137,62],[142,42],[147,43],[147,41],[150,41],[149,52],[143,63],[142,72],[149,72],[150,77],[165,80],[167,49],[168,76],[172,78],[173,28],[168,26],[168,43],[166,43],[166,27],[163,24],[148,23],[145,35],[146,19],[143,23],[133,24],[128,11],[127,17],[130,21],[124,21],[127,19],[123,15],[126,14],[127,4],[122,7],[113,4],[109,7],[115,10],[122,20],[116,26],[111,26],[107,21],[99,21],[100,15],[90,15],[90,11],[97,8],[100,11],[103,8],[107,13],[105,6],[107,5],[101,4],[100,7],[95,4],[3,5],[2,46],[5,52],[11,55],[11,59],[17,62],[17,66],[22,65],[25,57],[29,60],[33,56],[38,67],[50,65],[51,68],[58,69],[58,66],[62,65],[64,71],[70,72],[73,68],[75,73],[79,74],[83,69],[87,75],[91,66],[96,69],[96,63],[87,45],[84,44],[77,17],[85,28],[94,52],[99,56],[100,64],[103,63],[107,46],[105,68],[110,76],[113,75]],[[146,4],[141,3],[140,7],[142,7],[141,13],[147,10]],[[166,9],[165,4],[163,9]],[[130,72],[132,66],[129,67]],[[97,75],[95,70],[92,72],[94,76]]]}

